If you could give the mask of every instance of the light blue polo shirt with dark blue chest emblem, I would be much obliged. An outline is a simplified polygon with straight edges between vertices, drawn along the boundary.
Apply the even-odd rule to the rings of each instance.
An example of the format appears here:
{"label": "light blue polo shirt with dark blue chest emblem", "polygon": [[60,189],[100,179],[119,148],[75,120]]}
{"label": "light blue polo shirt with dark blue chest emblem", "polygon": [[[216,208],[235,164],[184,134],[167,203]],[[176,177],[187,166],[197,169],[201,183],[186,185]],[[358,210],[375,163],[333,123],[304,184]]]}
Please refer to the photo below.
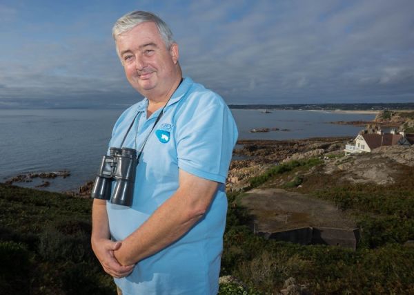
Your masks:
{"label": "light blue polo shirt with dark blue chest emblem", "polygon": [[[146,118],[148,99],[117,120],[110,146],[117,146],[135,115],[124,147],[139,150],[161,109]],[[139,261],[130,276],[115,279],[124,295],[217,294],[226,224],[225,182],[237,141],[237,127],[224,100],[186,77],[148,137],[135,179],[132,206],[107,204],[110,234],[124,240],[178,188],[179,169],[220,182],[213,202],[197,224],[172,245]]]}

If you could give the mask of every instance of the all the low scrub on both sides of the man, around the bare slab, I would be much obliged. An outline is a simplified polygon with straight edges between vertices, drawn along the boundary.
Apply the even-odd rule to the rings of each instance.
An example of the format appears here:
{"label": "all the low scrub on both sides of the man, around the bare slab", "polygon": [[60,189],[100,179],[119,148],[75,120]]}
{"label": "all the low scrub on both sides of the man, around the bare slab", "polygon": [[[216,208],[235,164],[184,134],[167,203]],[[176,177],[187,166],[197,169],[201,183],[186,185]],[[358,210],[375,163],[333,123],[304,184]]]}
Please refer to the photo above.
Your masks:
{"label": "all the low scrub on both sides of the man, around the bare slab", "polygon": [[[414,294],[414,247],[407,243],[414,240],[414,169],[388,186],[297,176],[320,164],[284,163],[253,178],[250,187],[283,177],[291,180],[288,189],[335,202],[362,230],[357,251],[256,236],[237,204],[241,195],[229,193],[221,275],[244,285],[223,283],[219,294],[275,294],[288,278],[304,286],[303,294]],[[90,206],[88,199],[0,184],[1,294],[115,294],[90,249]]]}

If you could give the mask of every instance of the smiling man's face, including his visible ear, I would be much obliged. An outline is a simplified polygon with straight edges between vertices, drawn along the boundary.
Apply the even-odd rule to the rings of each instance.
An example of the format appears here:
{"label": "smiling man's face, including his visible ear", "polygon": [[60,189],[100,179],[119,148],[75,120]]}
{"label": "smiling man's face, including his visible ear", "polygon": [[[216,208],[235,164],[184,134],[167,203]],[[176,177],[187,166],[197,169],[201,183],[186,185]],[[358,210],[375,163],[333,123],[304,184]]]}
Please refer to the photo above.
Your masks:
{"label": "smiling man's face, including his visible ear", "polygon": [[148,97],[166,95],[177,79],[178,46],[168,50],[157,25],[140,23],[116,40],[126,78],[135,90]]}

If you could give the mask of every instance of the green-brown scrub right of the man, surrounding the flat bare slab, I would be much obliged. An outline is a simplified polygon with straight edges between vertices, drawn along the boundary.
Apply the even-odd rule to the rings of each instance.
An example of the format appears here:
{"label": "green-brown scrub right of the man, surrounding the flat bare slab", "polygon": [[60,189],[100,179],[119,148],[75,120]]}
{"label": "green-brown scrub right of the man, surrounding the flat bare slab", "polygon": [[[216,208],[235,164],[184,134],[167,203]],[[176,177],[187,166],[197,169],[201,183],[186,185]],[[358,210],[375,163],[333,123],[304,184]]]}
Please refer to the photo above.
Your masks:
{"label": "green-brown scrub right of the man, surrounding the flat bare slab", "polygon": [[[285,167],[291,169],[262,175],[266,178],[262,185],[279,183],[274,178],[295,175],[304,166],[290,162]],[[389,186],[338,186],[335,175],[322,179],[316,173],[302,178],[304,188],[291,186],[297,191],[311,187],[306,193],[331,200],[351,214],[362,231],[357,251],[326,245],[294,245],[255,236],[248,227],[248,214],[231,205],[240,196],[231,195],[231,222],[224,235],[221,273],[232,274],[262,294],[279,292],[290,277],[299,285],[306,285],[311,294],[413,294],[414,247],[406,243],[414,240],[413,176],[414,169],[407,168],[400,180]]]}

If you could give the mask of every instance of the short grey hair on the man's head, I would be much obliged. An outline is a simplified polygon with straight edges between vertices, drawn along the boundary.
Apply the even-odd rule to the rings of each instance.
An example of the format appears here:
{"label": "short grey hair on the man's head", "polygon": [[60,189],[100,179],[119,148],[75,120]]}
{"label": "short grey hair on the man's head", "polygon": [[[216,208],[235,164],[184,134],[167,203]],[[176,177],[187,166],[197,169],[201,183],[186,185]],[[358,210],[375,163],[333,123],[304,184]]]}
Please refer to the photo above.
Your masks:
{"label": "short grey hair on the man's head", "polygon": [[144,23],[146,21],[152,21],[157,25],[159,35],[161,35],[161,38],[166,44],[166,48],[170,49],[171,45],[175,43],[174,39],[172,39],[172,32],[170,28],[168,28],[167,24],[162,19],[160,19],[159,17],[157,17],[157,15],[154,15],[151,12],[139,10],[128,12],[126,15],[124,15],[124,17],[118,19],[115,25],[113,26],[112,37],[114,37],[116,41],[117,37],[121,35],[123,32],[131,30],[135,26],[138,26],[139,23]]}

